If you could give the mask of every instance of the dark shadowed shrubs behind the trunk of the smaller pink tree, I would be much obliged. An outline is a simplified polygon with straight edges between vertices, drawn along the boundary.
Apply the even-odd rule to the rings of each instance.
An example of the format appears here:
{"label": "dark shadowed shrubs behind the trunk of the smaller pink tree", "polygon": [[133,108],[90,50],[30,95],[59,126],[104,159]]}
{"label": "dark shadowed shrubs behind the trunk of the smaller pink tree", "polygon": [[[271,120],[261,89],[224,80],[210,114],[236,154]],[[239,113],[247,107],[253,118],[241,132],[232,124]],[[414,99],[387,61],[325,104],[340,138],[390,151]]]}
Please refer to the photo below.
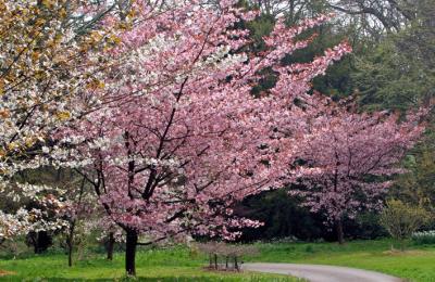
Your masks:
{"label": "dark shadowed shrubs behind the trunk of the smaller pink tree", "polygon": [[[260,220],[264,226],[244,231],[241,241],[278,240],[315,241],[324,239],[335,241],[336,234],[320,214],[312,214],[300,206],[300,201],[288,195],[286,190],[263,192],[246,198],[236,208],[239,215]],[[378,222],[376,213],[361,214],[356,219],[344,222],[345,236],[348,239],[374,239],[386,235]]]}

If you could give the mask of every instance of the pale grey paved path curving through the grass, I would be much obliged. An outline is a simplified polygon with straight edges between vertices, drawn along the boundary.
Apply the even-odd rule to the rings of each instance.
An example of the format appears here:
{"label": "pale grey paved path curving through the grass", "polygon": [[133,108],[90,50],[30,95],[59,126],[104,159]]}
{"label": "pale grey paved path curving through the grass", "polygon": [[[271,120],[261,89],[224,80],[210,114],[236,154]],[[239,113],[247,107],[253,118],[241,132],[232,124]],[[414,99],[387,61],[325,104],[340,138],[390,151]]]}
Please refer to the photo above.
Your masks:
{"label": "pale grey paved path curving through the grass", "polygon": [[290,274],[310,282],[400,282],[399,278],[348,267],[299,264],[244,264],[243,269]]}

